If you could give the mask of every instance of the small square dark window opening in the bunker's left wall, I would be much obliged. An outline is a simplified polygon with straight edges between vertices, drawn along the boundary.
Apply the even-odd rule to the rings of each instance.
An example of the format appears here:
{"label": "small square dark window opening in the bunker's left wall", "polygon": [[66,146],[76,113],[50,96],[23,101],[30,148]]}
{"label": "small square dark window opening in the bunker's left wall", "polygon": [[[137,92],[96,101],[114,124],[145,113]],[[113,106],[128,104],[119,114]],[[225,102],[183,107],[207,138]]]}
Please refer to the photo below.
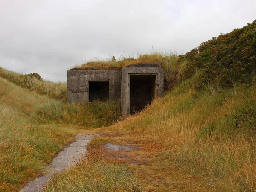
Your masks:
{"label": "small square dark window opening in the bunker's left wall", "polygon": [[89,102],[93,100],[109,100],[109,82],[89,81]]}

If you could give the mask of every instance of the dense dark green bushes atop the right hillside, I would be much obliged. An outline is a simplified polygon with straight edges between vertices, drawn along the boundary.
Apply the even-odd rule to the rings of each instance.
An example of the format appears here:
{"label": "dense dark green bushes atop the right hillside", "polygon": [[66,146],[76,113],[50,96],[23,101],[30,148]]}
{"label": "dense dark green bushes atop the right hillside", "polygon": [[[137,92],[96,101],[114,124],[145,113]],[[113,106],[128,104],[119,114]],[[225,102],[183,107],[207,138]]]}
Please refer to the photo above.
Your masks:
{"label": "dense dark green bushes atop the right hillside", "polygon": [[240,29],[213,37],[180,58],[189,63],[183,77],[189,78],[201,70],[201,84],[219,87],[232,86],[234,82],[250,84],[256,69],[256,20]]}

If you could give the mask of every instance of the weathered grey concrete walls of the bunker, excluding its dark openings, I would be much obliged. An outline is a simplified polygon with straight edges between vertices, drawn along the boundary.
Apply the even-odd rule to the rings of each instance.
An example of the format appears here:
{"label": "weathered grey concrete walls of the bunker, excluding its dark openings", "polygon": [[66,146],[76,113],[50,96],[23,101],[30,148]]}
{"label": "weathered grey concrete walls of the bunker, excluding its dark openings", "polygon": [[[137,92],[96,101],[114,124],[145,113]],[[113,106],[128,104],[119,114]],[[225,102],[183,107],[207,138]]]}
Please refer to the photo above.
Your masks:
{"label": "weathered grey concrete walls of the bunker, excluding its dark openings", "polygon": [[[108,98],[109,100],[116,101],[121,99],[122,114],[127,116],[127,114],[137,109],[143,107],[137,106],[136,104],[131,105],[130,110],[130,76],[154,76],[154,82],[152,85],[147,85],[149,88],[137,88],[140,90],[139,99],[132,100],[134,103],[148,104],[151,102],[152,98],[163,96],[164,91],[164,71],[163,68],[158,64],[137,64],[127,67],[123,67],[122,70],[68,70],[67,71],[67,102],[69,103],[82,103],[89,102],[89,82],[109,82],[109,97],[105,96],[107,91],[99,91],[97,94],[103,94],[104,96],[93,97],[93,98]],[[149,77],[148,76],[148,77]],[[142,80],[143,81],[143,80]],[[141,82],[142,82],[141,81]],[[148,81],[148,80],[146,80]],[[151,81],[150,81],[151,82]],[[148,83],[150,83],[148,82]],[[145,84],[145,81],[144,81]],[[143,86],[143,83],[140,83]],[[132,85],[133,86],[133,85]],[[102,87],[102,86],[101,86]],[[134,86],[133,86],[134,87]],[[138,87],[138,86],[137,86]],[[92,90],[92,89],[91,89]],[[148,94],[148,98],[142,98],[143,91],[146,92],[150,90],[151,93]],[[136,91],[136,90],[135,90]],[[95,91],[96,92],[96,91]],[[151,97],[151,98],[150,98]],[[91,99],[90,99],[91,100]],[[144,103],[141,103],[143,100]]]}

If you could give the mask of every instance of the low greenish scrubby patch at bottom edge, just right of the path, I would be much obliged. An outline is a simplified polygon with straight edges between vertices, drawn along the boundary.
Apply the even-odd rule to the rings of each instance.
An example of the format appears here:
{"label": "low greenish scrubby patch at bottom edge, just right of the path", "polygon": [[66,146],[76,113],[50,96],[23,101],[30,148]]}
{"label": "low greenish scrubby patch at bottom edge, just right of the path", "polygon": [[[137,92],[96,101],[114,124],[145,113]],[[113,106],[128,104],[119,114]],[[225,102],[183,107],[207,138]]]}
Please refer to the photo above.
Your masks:
{"label": "low greenish scrubby patch at bottom edge, just right of the path", "polygon": [[140,192],[141,187],[130,169],[104,162],[87,162],[56,174],[45,192]]}

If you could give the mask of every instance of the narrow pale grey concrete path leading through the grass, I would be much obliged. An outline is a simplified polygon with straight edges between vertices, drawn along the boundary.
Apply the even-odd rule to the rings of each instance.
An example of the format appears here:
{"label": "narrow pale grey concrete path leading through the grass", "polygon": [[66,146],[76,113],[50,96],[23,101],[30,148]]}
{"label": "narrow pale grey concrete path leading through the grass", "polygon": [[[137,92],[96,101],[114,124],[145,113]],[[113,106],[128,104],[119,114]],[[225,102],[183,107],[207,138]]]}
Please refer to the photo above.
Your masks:
{"label": "narrow pale grey concrete path leading through the grass", "polygon": [[74,165],[79,159],[87,153],[86,145],[96,137],[97,134],[78,134],[76,140],[61,151],[53,158],[52,163],[47,167],[47,174],[37,179],[30,181],[20,190],[20,192],[41,192],[44,189],[44,184],[52,177],[55,172],[61,172],[69,166]]}

